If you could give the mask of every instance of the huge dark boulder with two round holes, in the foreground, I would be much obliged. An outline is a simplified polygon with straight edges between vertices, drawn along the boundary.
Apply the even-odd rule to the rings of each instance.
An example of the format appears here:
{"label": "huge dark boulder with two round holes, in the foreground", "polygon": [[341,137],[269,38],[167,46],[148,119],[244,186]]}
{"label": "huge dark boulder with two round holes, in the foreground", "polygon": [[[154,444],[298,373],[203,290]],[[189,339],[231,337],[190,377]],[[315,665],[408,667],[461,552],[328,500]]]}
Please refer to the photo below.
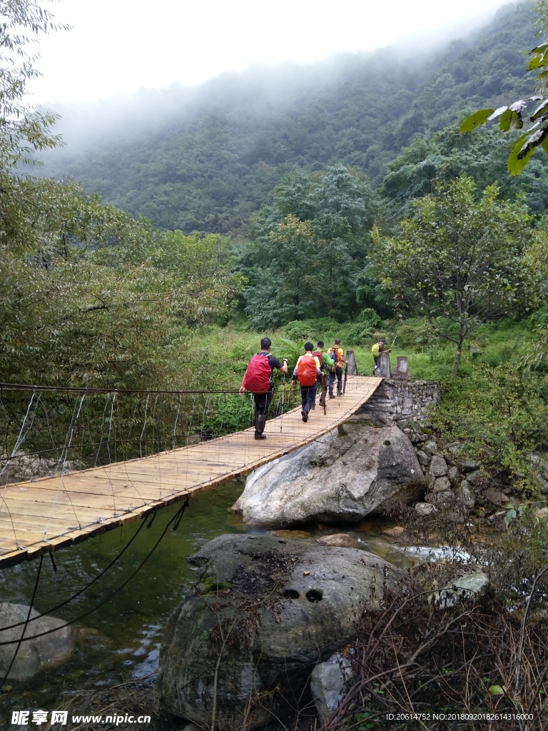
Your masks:
{"label": "huge dark boulder with two round holes, in the foreground", "polygon": [[200,727],[213,723],[213,705],[221,727],[283,713],[381,606],[384,587],[406,586],[366,551],[275,535],[220,536],[190,560],[199,583],[167,622],[158,690],[165,711]]}

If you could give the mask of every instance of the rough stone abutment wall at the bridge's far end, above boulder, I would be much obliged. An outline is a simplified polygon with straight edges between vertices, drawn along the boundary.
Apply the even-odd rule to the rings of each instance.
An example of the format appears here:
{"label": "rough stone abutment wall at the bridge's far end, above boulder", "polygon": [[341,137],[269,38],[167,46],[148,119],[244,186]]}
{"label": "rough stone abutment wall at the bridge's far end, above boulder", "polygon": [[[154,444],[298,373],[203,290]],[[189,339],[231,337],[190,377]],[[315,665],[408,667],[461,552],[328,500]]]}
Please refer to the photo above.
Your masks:
{"label": "rough stone abutment wall at the bridge's far end, above boulder", "polygon": [[395,424],[403,429],[411,422],[427,420],[427,406],[438,404],[440,388],[433,381],[384,379],[356,416],[375,426]]}

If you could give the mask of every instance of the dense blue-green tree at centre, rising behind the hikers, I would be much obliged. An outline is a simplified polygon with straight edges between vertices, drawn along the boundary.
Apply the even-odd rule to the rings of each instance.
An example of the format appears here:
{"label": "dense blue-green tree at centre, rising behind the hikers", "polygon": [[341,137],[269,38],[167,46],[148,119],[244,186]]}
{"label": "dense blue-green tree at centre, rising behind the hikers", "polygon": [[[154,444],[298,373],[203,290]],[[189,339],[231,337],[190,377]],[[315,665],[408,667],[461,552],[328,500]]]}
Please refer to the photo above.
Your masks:
{"label": "dense blue-green tree at centre, rising behind the hikers", "polygon": [[319,313],[344,319],[356,308],[354,277],[375,205],[368,183],[340,165],[321,175],[284,176],[273,206],[256,220],[255,242],[239,257],[254,327]]}

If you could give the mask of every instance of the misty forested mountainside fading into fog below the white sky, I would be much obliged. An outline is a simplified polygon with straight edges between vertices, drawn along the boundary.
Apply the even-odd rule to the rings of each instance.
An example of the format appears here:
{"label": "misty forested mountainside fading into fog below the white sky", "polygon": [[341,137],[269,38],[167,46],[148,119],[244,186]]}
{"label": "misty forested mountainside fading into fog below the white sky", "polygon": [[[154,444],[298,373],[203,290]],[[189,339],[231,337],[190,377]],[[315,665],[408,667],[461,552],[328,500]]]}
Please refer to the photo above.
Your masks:
{"label": "misty forested mountainside fading into fog below the white sky", "polygon": [[42,174],[73,176],[156,227],[236,234],[289,170],[342,163],[378,186],[417,134],[529,94],[524,52],[534,45],[533,4],[522,2],[441,50],[252,67],[66,107],[58,131],[68,145],[45,156]]}

